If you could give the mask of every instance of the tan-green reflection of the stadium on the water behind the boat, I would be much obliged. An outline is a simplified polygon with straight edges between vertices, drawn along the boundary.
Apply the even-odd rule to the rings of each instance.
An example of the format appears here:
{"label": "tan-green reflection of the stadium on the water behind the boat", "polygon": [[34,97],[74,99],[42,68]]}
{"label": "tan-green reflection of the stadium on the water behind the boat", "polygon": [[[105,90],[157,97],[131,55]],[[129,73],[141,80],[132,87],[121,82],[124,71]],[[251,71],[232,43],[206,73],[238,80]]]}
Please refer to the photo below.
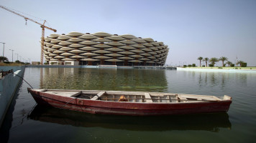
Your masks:
{"label": "tan-green reflection of the stadium on the water behind the boat", "polygon": [[44,68],[41,89],[167,92],[165,70]]}

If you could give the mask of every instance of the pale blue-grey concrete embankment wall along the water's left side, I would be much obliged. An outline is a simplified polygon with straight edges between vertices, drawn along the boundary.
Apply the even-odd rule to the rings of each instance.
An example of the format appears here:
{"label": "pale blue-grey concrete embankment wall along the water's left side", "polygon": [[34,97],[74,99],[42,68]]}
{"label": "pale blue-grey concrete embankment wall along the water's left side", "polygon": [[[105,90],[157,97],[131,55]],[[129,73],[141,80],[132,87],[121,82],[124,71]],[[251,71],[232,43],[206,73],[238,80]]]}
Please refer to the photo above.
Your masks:
{"label": "pale blue-grey concrete embankment wall along the water's left side", "polygon": [[[14,74],[7,74],[0,79],[0,127],[4,121],[5,114],[9,109],[9,104],[12,102],[14,94],[22,80],[25,66],[0,66],[0,70],[9,71],[13,70]],[[19,75],[19,77],[17,75]]]}

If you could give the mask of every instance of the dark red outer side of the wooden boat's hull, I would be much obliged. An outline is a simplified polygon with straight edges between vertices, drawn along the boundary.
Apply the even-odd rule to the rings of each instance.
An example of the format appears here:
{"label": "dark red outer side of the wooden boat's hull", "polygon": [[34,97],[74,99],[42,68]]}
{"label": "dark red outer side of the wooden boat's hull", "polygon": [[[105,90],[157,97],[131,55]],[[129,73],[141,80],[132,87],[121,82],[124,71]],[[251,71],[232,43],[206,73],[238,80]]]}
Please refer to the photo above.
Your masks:
{"label": "dark red outer side of the wooden boat's hull", "polygon": [[199,114],[228,112],[232,100],[192,103],[134,103],[60,97],[55,94],[29,91],[37,104],[91,114],[119,114],[132,116],[157,116],[171,114]]}

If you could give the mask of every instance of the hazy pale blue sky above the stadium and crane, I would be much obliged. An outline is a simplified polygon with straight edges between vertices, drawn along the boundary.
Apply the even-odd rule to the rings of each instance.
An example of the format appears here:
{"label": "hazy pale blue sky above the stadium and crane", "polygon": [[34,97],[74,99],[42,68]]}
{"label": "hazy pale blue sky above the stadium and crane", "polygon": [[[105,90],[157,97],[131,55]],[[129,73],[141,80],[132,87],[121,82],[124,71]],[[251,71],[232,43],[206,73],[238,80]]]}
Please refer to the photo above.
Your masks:
{"label": "hazy pale blue sky above the stadium and crane", "polygon": [[[255,0],[0,0],[1,6],[57,29],[132,34],[168,45],[165,64],[199,65],[199,56],[225,56],[256,66]],[[55,32],[45,29],[45,36]],[[40,61],[42,29],[32,21],[0,9],[0,42],[12,61]],[[0,55],[4,44],[0,43]],[[217,63],[221,66],[221,61]]]}

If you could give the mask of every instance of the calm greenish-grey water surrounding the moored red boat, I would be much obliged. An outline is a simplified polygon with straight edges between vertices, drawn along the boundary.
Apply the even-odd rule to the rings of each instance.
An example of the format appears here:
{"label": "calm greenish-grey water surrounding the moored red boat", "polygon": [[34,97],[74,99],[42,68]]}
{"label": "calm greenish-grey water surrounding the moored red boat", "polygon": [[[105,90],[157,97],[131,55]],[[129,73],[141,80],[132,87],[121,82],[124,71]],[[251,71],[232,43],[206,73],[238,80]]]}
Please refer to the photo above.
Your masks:
{"label": "calm greenish-grey water surrounding the moored red boat", "polygon": [[106,89],[232,97],[227,113],[168,117],[96,115],[35,106],[22,82],[0,142],[255,142],[256,73],[26,68],[35,89]]}

